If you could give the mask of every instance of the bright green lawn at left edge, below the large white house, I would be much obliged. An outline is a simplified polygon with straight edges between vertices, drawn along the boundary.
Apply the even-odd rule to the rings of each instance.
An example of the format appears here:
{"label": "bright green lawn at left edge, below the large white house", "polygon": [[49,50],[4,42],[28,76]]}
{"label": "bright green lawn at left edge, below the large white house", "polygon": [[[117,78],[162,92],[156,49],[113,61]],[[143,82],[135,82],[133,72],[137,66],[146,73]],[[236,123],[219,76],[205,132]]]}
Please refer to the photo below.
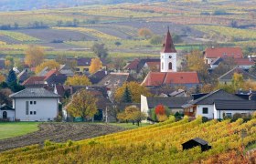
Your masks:
{"label": "bright green lawn at left edge, below the large white house", "polygon": [[0,139],[22,136],[38,130],[38,122],[0,123]]}

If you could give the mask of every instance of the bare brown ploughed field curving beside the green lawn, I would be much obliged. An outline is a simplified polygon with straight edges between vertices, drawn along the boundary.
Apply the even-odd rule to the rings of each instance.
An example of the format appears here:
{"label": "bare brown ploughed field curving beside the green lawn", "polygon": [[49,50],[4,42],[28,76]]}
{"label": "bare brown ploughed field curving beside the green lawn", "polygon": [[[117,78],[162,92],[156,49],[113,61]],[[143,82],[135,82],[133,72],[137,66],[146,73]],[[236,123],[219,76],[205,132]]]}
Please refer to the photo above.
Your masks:
{"label": "bare brown ploughed field curving beside the green lawn", "polygon": [[69,139],[80,140],[83,138],[93,138],[123,130],[124,128],[110,125],[87,123],[43,123],[39,125],[39,130],[37,132],[16,138],[1,139],[0,151],[32,144],[43,144],[47,139],[54,142],[65,142]]}

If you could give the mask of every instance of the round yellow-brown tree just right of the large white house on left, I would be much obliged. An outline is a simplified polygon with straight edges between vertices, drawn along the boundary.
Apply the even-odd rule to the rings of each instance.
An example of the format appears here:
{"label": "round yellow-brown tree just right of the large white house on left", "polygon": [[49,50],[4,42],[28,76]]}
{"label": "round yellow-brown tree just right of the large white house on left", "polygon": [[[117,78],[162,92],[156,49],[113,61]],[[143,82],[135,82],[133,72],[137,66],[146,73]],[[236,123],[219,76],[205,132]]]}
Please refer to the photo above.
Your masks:
{"label": "round yellow-brown tree just right of the large white house on left", "polygon": [[73,97],[67,105],[68,113],[73,117],[80,117],[82,120],[85,118],[92,118],[97,113],[98,99],[94,97],[86,89],[81,89]]}

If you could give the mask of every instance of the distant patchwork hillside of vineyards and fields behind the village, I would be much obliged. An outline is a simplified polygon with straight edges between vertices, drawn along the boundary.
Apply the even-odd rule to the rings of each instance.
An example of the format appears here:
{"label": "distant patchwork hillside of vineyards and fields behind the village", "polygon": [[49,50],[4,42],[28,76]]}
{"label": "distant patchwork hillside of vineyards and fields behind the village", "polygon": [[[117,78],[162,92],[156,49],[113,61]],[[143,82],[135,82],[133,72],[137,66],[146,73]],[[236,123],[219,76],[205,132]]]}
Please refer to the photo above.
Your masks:
{"label": "distant patchwork hillside of vineyards and fields behind the village", "polygon": [[[26,5],[30,1],[0,3],[10,2],[15,6]],[[54,4],[59,1],[37,1],[30,5],[41,2]],[[63,2],[75,5],[74,1]],[[256,14],[252,0],[55,7],[0,12],[0,57],[24,57],[30,44],[44,47],[48,58],[59,55],[94,56],[90,50],[94,42],[104,43],[110,57],[157,56],[161,41],[153,44],[151,39],[139,36],[138,31],[148,28],[153,36],[161,39],[167,26],[179,52],[186,53],[195,48],[203,50],[206,46],[240,46],[255,52]]]}

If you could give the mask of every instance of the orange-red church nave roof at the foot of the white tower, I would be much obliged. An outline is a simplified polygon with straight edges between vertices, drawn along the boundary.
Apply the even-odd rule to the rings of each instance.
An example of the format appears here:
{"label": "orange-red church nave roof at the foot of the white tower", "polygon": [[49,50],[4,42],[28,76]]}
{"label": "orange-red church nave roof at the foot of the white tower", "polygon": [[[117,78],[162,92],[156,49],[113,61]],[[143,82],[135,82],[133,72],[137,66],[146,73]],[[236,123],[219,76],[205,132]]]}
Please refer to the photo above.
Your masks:
{"label": "orange-red church nave roof at the foot of the white tower", "polygon": [[197,72],[150,72],[145,77],[144,86],[169,84],[199,84]]}

